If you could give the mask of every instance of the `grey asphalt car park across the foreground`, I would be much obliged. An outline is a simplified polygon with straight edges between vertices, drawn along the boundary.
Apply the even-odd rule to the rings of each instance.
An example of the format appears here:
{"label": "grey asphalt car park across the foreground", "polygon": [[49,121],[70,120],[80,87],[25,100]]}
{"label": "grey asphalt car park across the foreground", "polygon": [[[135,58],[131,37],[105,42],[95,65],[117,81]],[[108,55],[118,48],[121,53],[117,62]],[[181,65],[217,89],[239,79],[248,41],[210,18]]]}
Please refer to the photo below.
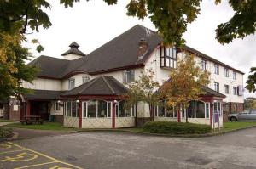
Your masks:
{"label": "grey asphalt car park across the foreground", "polygon": [[[55,163],[50,166],[32,168],[249,169],[256,168],[255,140],[256,127],[208,138],[165,138],[126,132],[76,132],[17,140],[13,143],[32,149],[32,152],[38,152],[39,155],[43,154],[33,164],[50,162],[49,159],[54,158],[51,160]],[[18,166],[18,162],[14,161],[0,160],[0,164],[2,168]],[[33,164],[27,163],[26,166]]]}

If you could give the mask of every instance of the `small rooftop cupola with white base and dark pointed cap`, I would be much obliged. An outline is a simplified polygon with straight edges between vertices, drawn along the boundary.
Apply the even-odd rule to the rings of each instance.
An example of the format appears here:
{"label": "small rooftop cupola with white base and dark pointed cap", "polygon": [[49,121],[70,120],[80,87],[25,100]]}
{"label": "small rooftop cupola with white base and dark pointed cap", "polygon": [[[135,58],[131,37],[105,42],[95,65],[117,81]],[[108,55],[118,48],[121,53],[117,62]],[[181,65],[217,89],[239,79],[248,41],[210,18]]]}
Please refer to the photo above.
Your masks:
{"label": "small rooftop cupola with white base and dark pointed cap", "polygon": [[67,50],[64,54],[61,54],[64,59],[72,60],[72,59],[79,59],[83,56],[86,56],[82,51],[79,50],[79,44],[77,42],[72,42],[69,45],[70,49]]}

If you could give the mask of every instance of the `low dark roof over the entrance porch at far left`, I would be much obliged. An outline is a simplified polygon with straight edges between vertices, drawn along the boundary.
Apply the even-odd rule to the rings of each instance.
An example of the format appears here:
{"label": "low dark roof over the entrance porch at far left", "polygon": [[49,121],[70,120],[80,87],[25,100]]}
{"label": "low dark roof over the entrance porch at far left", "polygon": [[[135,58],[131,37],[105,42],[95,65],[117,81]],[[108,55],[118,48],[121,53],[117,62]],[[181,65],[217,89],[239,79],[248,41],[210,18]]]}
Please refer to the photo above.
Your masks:
{"label": "low dark roof over the entrance porch at far left", "polygon": [[33,90],[32,93],[26,94],[25,99],[60,99],[60,94],[63,91],[52,90]]}

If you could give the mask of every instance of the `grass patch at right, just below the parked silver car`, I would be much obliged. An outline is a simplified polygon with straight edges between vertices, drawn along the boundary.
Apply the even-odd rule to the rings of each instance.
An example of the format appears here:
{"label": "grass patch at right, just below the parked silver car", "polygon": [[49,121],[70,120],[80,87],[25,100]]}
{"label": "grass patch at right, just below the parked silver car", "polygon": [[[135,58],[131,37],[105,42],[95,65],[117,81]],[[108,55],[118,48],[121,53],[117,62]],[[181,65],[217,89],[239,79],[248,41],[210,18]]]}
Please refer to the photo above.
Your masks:
{"label": "grass patch at right, just below the parked silver car", "polygon": [[256,121],[234,121],[234,122],[224,122],[223,132],[228,132],[231,130],[241,129],[245,127],[256,126]]}

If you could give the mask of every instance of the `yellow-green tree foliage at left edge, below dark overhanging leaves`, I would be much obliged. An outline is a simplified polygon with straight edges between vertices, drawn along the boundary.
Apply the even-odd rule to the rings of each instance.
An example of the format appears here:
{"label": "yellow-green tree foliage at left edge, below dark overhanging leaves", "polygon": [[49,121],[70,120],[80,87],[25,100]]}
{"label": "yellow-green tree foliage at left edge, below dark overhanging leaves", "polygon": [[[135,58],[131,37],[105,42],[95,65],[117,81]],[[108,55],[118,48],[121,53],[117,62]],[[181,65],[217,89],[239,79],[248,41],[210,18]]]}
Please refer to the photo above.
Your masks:
{"label": "yellow-green tree foliage at left edge, below dark overhanging leaves", "polygon": [[31,54],[21,46],[22,39],[20,34],[9,35],[0,31],[0,100],[16,93],[29,92],[21,86],[22,81],[32,82],[38,71],[25,65]]}

